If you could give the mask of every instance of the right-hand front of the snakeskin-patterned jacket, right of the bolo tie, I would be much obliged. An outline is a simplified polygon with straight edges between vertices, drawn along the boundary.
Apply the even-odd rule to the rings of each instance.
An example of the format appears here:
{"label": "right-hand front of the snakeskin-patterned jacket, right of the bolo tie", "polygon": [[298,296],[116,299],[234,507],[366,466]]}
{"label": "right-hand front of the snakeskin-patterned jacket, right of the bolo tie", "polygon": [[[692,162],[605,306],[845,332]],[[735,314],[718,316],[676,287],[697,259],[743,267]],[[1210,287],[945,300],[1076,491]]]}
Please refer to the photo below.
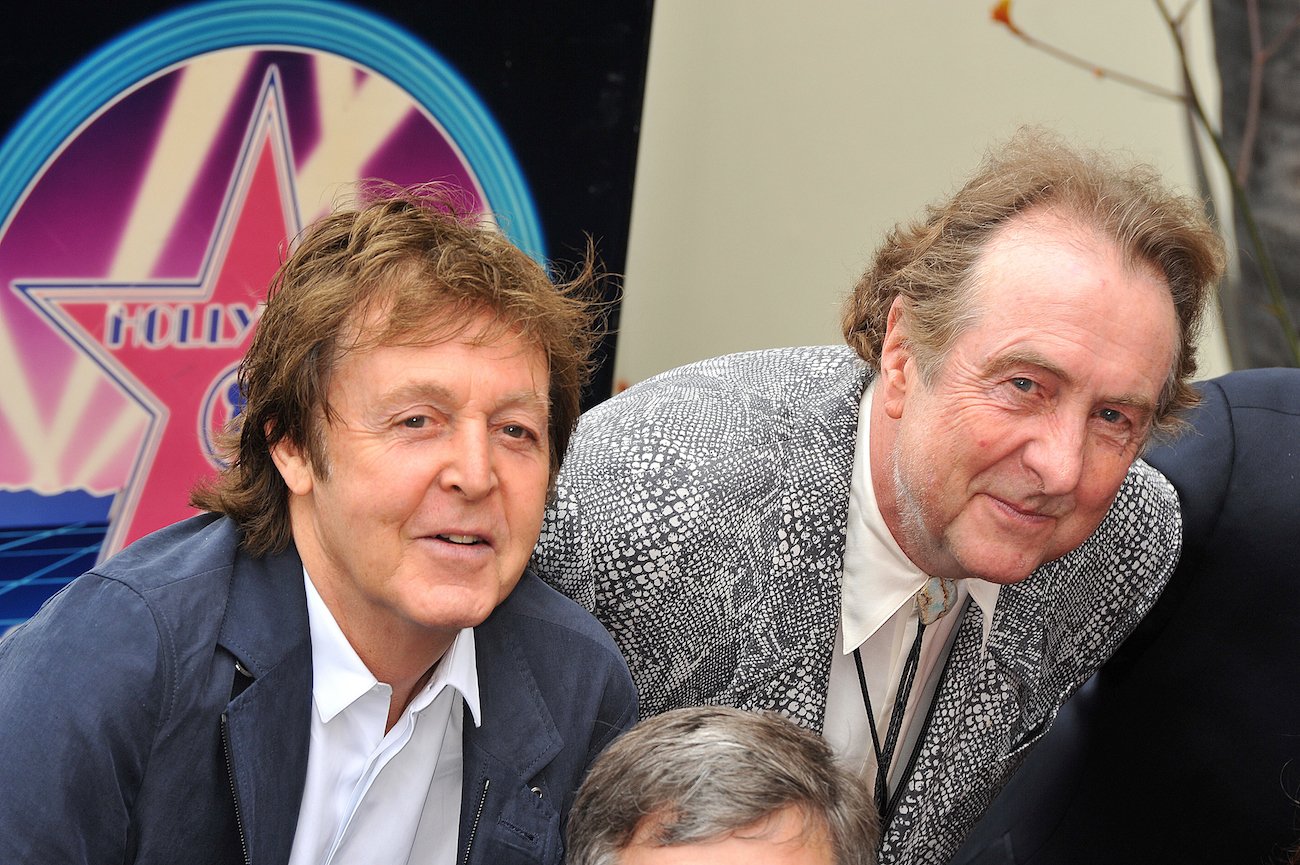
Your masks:
{"label": "right-hand front of the snakeskin-patterned jacket, right of the bolo tie", "polygon": [[[1144,463],[1079,549],[1002,587],[987,652],[971,605],[881,862],[944,862],[1061,705],[1150,607],[1176,561],[1176,499]],[[1140,531],[1138,528],[1140,527]]]}

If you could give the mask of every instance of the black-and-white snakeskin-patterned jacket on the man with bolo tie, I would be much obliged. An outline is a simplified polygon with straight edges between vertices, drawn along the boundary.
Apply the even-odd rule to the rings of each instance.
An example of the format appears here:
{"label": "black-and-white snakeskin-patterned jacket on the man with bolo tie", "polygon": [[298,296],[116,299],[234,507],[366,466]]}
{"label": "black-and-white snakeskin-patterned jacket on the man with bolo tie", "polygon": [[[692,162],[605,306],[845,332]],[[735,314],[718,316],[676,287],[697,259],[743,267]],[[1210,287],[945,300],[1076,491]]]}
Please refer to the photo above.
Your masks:
{"label": "black-and-white snakeskin-patterned jacket on the man with bolo tie", "polygon": [[[650,379],[578,424],[534,566],[627,657],[642,715],[701,704],[822,730],[858,403],[844,346],[751,351]],[[971,604],[880,861],[945,862],[1061,704],[1156,601],[1178,498],[1138,460],[1079,549]]]}

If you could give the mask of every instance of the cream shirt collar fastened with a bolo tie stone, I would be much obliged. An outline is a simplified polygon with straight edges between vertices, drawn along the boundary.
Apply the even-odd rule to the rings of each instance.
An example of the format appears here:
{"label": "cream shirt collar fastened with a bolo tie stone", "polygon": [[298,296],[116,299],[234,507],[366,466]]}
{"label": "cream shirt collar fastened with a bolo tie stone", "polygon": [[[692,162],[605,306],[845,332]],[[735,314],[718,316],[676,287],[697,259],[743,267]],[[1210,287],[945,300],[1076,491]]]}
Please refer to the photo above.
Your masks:
{"label": "cream shirt collar fastened with a bolo tie stone", "polygon": [[[880,630],[926,584],[928,575],[913,565],[898,546],[876,503],[871,477],[871,397],[872,380],[858,405],[858,437],[853,451],[853,477],[849,483],[849,524],[845,532],[844,588],[840,627],[844,628],[845,654]],[[993,626],[993,607],[1001,587],[985,580],[957,580],[957,605],[967,594],[983,613],[984,640]]]}

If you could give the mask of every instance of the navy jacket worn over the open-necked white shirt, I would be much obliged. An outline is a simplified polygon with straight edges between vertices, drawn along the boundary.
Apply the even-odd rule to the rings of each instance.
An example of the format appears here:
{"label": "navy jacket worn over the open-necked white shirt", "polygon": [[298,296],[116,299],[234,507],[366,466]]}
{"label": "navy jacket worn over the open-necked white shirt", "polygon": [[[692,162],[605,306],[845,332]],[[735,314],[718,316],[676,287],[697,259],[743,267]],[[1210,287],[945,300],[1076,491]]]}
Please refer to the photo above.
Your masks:
{"label": "navy jacket worn over the open-necked white shirt", "polygon": [[[238,539],[177,523],[0,640],[0,862],[287,861],[312,705],[302,563]],[[474,643],[458,862],[562,862],[586,766],[636,719],[627,666],[532,574]]]}

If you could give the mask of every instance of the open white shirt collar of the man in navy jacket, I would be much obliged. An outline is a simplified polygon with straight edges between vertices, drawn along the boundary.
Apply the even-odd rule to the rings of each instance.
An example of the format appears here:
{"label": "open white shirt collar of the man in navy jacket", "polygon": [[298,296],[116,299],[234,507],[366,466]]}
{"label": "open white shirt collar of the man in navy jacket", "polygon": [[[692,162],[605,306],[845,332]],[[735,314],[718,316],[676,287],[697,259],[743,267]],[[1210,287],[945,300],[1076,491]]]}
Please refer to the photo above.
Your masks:
{"label": "open white shirt collar of the man in navy jacket", "polygon": [[[365,666],[356,649],[338,627],[334,614],[316,591],[307,568],[307,624],[312,639],[312,699],[322,722],[329,722],[378,684],[378,679]],[[474,632],[462,628],[442,654],[429,682],[411,699],[408,712],[421,712],[433,702],[445,687],[455,688],[465,701],[474,726],[482,723],[478,705],[478,671],[474,653]]]}

